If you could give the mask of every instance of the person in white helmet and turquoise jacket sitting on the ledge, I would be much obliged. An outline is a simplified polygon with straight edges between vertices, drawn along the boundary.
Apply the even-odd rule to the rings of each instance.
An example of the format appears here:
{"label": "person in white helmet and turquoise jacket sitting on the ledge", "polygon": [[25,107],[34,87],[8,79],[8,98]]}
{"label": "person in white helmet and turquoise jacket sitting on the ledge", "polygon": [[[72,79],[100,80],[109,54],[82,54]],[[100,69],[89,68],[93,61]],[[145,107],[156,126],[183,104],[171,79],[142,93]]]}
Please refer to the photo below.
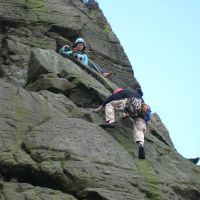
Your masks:
{"label": "person in white helmet and turquoise jacket sitting on the ledge", "polygon": [[112,72],[104,72],[99,66],[94,64],[93,62],[89,62],[88,56],[84,52],[85,50],[85,42],[82,38],[76,39],[74,45],[72,46],[72,50],[70,50],[69,45],[63,46],[59,54],[61,54],[63,57],[69,58],[76,58],[78,61],[82,62],[84,65],[93,68],[97,72],[99,72],[101,75],[103,75],[104,78],[107,78],[112,75]]}

